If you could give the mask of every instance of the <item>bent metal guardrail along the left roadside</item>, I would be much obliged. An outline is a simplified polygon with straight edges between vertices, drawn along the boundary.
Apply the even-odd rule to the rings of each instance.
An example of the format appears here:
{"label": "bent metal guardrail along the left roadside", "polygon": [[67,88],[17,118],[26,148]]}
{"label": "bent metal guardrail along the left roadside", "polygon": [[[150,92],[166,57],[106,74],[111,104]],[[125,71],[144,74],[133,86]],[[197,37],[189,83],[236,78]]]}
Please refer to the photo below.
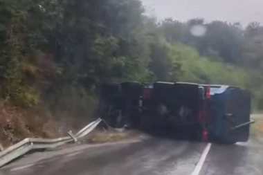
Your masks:
{"label": "bent metal guardrail along the left roadside", "polygon": [[28,151],[37,150],[37,149],[52,149],[60,145],[64,145],[67,142],[76,142],[79,139],[87,136],[93,129],[95,129],[102,119],[98,119],[89,123],[89,125],[80,129],[75,135],[69,131],[67,137],[55,138],[55,139],[44,139],[44,138],[26,138],[21,142],[18,142],[7,149],[4,149],[0,152],[0,167],[3,167],[10,161],[23,156],[28,153]]}

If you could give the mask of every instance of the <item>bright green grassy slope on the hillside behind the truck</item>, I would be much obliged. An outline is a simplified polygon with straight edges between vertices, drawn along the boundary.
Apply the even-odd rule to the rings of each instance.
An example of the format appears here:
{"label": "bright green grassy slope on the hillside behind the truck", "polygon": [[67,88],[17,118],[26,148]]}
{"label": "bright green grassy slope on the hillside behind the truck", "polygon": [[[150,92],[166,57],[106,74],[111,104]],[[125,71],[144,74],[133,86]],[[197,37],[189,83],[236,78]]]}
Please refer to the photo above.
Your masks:
{"label": "bright green grassy slope on the hillside behind the truck", "polygon": [[220,61],[211,61],[200,56],[194,48],[183,44],[166,45],[172,62],[181,65],[178,80],[245,87],[247,77],[244,69]]}

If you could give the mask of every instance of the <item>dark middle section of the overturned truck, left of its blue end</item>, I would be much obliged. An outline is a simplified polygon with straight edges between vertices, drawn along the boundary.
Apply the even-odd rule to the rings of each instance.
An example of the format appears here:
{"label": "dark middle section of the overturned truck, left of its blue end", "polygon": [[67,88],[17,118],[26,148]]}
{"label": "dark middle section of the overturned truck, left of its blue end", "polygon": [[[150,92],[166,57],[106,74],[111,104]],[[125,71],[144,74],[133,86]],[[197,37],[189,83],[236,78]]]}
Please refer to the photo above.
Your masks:
{"label": "dark middle section of the overturned truck, left of its blue end", "polygon": [[168,131],[177,138],[201,137],[203,123],[199,120],[204,101],[199,96],[198,84],[156,82],[151,87],[145,86],[141,127],[148,131]]}

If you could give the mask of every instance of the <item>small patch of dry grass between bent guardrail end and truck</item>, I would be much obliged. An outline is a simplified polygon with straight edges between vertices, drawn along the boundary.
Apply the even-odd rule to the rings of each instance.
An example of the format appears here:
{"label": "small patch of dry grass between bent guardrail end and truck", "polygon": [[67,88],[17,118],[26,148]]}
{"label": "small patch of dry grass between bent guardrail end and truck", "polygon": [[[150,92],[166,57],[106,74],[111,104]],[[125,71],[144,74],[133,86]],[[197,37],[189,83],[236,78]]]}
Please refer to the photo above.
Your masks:
{"label": "small patch of dry grass between bent guardrail end and truck", "polygon": [[87,136],[87,143],[105,143],[105,142],[118,142],[121,140],[129,140],[136,138],[139,135],[138,131],[102,131],[101,129],[96,129],[89,136]]}

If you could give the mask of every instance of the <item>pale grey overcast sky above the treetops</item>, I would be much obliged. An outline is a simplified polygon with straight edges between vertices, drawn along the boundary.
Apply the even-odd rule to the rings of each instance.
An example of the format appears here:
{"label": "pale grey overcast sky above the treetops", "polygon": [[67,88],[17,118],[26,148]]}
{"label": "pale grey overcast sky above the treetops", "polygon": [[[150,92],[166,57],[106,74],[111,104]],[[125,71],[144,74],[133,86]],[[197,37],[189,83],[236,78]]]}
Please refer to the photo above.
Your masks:
{"label": "pale grey overcast sky above the treetops", "polygon": [[263,0],[141,0],[147,14],[158,18],[172,17],[180,21],[201,17],[206,21],[219,19],[263,24]]}

